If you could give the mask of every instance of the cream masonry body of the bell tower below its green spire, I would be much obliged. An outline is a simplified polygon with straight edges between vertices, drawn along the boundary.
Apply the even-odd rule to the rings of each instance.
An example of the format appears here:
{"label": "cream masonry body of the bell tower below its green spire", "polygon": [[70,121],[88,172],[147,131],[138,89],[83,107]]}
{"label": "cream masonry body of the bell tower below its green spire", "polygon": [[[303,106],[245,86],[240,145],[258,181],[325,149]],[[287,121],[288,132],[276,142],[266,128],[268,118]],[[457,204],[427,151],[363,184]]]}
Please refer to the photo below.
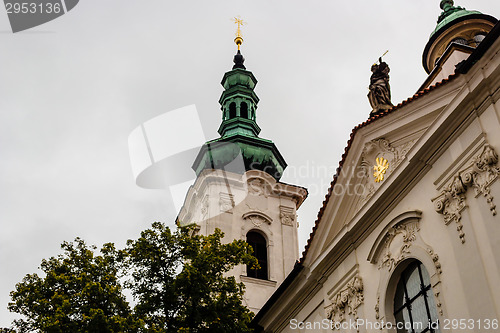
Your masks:
{"label": "cream masonry body of the bell tower below its green spire", "polygon": [[252,233],[264,238],[267,260],[259,262],[263,275],[249,274],[244,265],[228,272],[245,284],[244,304],[258,312],[299,256],[297,209],[306,196],[304,188],[278,182],[260,170],[243,175],[205,170],[190,187],[178,220],[196,223],[203,235],[218,228],[225,242],[247,240]]}

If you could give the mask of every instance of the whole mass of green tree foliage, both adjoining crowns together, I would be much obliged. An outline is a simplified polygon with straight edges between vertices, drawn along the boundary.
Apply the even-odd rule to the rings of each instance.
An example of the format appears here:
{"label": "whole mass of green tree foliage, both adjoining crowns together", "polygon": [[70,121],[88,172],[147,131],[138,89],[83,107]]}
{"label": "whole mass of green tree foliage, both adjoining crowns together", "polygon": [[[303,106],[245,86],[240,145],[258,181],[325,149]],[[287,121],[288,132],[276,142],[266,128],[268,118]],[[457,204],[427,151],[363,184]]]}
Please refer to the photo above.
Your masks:
{"label": "whole mass of green tree foliage, both adjoining crowns together", "polygon": [[64,242],[62,255],[42,260],[44,276],[28,274],[11,292],[8,308],[24,318],[0,332],[250,332],[244,285],[226,273],[257,260],[246,242],[223,236],[155,222],[122,251]]}

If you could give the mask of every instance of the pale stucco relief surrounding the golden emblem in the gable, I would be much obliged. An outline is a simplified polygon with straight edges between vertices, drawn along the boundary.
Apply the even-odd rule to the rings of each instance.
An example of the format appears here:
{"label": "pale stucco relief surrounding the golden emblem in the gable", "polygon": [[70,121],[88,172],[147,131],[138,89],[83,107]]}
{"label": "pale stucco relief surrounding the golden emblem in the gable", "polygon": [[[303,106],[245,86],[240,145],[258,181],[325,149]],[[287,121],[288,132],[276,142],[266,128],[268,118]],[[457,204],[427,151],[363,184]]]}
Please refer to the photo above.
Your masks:
{"label": "pale stucco relief surrounding the golden emblem in the gable", "polygon": [[377,158],[383,158],[386,161],[387,168],[384,170],[384,178],[387,178],[401,164],[415,142],[416,140],[412,140],[399,146],[393,146],[385,139],[377,139],[365,144],[360,162],[362,180],[365,186],[358,209],[375,194],[383,181],[380,178],[379,181],[376,181],[377,179],[374,178],[373,167],[377,165]]}

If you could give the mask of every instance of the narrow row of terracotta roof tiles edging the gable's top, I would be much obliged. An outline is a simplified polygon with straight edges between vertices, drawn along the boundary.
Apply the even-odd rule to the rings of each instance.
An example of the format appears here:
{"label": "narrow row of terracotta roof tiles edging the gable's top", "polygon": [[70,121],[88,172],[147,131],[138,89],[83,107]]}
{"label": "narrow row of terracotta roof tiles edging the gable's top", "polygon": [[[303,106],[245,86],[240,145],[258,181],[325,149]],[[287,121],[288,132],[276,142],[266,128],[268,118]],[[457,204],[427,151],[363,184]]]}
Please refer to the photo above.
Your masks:
{"label": "narrow row of terracotta roof tiles edging the gable's top", "polygon": [[351,132],[351,135],[350,135],[350,138],[349,140],[347,141],[347,146],[345,147],[344,149],[344,153],[342,154],[342,159],[340,160],[339,162],[339,167],[337,168],[337,171],[336,171],[336,174],[333,176],[333,180],[332,182],[330,183],[330,188],[328,189],[328,193],[325,195],[325,200],[323,200],[323,205],[321,206],[321,208],[319,209],[319,212],[318,212],[318,216],[316,218],[316,221],[314,222],[314,227],[312,228],[312,232],[309,234],[309,239],[307,240],[307,244],[305,246],[305,249],[304,251],[302,252],[302,257],[299,259],[299,262],[301,264],[304,263],[304,260],[306,258],[306,255],[309,251],[309,247],[311,246],[311,243],[314,239],[314,235],[316,234],[316,230],[318,229],[319,227],[319,223],[321,221],[321,218],[323,217],[323,213],[325,212],[325,209],[326,209],[326,206],[328,205],[328,201],[330,200],[330,197],[332,195],[332,192],[333,192],[333,187],[335,186],[335,184],[337,183],[337,179],[338,179],[338,176],[340,174],[340,170],[342,169],[342,166],[344,165],[344,162],[347,158],[347,154],[349,153],[349,149],[351,148],[351,145],[354,141],[354,137],[356,135],[356,132],[373,123],[375,120],[377,119],[380,119],[380,118],[383,118],[384,116],[390,114],[390,113],[393,113],[397,110],[399,110],[401,107],[405,106],[405,105],[408,105],[409,103],[417,100],[418,98],[426,95],[427,93],[435,90],[436,88],[446,84],[447,82],[450,82],[452,81],[454,78],[457,77],[458,74],[452,74],[450,75],[448,78],[440,81],[440,82],[437,82],[436,84],[428,87],[428,88],[425,88],[424,90],[420,90],[418,91],[417,93],[415,93],[412,97],[402,101],[401,103],[399,103],[398,105],[395,105],[393,106],[392,108],[388,109],[388,110],[384,110],[384,111],[381,111],[379,112],[378,114],[376,115],[373,115],[371,116],[370,118],[368,118],[368,120],[364,121],[363,123],[357,125],[356,127],[353,128],[352,132]]}

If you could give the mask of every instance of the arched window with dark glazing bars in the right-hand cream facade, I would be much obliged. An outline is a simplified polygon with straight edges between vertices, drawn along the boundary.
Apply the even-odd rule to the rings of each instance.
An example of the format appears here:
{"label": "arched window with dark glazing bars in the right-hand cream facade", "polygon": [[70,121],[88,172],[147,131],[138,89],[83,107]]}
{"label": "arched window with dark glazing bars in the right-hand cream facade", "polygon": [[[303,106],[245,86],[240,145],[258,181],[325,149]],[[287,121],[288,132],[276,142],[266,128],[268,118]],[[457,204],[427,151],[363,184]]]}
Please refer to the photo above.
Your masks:
{"label": "arched window with dark glazing bars in the right-hand cream facade", "polygon": [[429,273],[419,261],[402,273],[394,296],[394,317],[398,333],[439,332],[437,311]]}

